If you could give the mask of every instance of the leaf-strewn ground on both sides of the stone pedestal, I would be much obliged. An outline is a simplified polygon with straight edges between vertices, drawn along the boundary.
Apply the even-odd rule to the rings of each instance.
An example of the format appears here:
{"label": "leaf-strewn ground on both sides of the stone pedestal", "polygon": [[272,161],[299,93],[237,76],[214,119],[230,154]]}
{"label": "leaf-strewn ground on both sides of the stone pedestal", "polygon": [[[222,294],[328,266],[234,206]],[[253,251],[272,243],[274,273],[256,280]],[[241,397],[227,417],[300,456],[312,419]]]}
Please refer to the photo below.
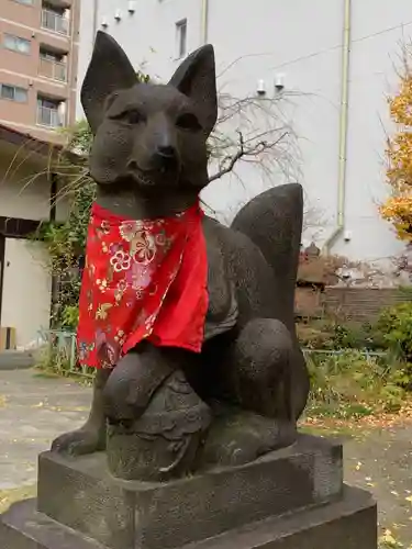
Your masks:
{"label": "leaf-strewn ground on both sides of the stone pedestal", "polygon": [[[89,402],[90,389],[76,382],[30,370],[0,371],[0,509],[10,489],[35,484],[38,452],[56,435],[80,426]],[[389,529],[389,541],[407,548],[412,548],[411,440],[409,423],[360,432],[345,444],[345,480],[375,494],[381,531]],[[33,488],[15,493],[20,498]]]}

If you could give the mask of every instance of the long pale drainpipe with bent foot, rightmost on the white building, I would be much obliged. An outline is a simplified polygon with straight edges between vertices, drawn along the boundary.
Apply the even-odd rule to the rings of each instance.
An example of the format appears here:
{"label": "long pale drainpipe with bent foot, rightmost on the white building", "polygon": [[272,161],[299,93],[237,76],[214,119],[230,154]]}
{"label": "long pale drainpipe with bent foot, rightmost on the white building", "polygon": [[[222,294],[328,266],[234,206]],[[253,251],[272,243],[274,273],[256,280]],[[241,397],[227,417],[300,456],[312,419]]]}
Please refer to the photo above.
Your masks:
{"label": "long pale drainpipe with bent foot, rightmost on the white building", "polygon": [[347,153],[347,126],[349,107],[349,63],[350,63],[350,22],[352,0],[344,0],[344,27],[342,51],[342,91],[341,91],[341,120],[339,120],[339,167],[337,178],[337,224],[332,235],[323,245],[323,251],[327,255],[336,238],[341,236],[345,227],[345,187],[346,187],[346,153]]}

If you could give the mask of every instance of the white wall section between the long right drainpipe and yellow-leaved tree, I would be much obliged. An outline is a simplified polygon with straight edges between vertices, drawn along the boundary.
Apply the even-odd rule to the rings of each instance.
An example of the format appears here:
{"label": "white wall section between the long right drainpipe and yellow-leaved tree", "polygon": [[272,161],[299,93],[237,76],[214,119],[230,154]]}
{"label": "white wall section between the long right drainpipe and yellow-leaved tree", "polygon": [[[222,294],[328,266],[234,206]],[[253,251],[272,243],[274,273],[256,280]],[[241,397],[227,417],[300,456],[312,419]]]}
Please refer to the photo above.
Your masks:
{"label": "white wall section between the long right drainpipe and yellow-leaved tree", "polygon": [[402,43],[412,38],[411,23],[408,0],[353,1],[346,220],[354,237],[337,249],[354,257],[385,259],[403,249],[379,219],[377,204],[388,192],[386,134],[393,128],[387,97],[398,89],[397,67]]}

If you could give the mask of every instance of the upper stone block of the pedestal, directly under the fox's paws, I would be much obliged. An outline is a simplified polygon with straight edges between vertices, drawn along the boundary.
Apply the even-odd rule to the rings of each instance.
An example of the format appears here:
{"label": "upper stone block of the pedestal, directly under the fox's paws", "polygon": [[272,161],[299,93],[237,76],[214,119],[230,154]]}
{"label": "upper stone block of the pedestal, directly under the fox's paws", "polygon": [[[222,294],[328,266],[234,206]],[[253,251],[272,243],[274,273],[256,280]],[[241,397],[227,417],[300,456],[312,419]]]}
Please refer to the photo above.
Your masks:
{"label": "upper stone block of the pedestal, directly under the fox's paws", "polygon": [[172,549],[334,502],[342,489],[342,446],[301,436],[252,463],[167,483],[115,479],[104,453],[46,452],[37,503],[44,515],[110,549]]}

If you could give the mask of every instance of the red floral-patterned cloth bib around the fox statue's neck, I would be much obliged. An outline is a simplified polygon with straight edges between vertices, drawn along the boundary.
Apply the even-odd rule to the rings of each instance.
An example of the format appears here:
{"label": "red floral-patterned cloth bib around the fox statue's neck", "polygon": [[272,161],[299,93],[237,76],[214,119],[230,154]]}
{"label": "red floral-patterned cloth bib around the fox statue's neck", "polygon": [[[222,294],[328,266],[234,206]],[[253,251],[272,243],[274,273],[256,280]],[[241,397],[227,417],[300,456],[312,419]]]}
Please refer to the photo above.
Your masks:
{"label": "red floral-patterned cloth bib around the fox statue's neck", "polygon": [[143,339],[200,352],[208,258],[199,204],[172,217],[127,220],[93,204],[82,273],[80,363],[112,368]]}

